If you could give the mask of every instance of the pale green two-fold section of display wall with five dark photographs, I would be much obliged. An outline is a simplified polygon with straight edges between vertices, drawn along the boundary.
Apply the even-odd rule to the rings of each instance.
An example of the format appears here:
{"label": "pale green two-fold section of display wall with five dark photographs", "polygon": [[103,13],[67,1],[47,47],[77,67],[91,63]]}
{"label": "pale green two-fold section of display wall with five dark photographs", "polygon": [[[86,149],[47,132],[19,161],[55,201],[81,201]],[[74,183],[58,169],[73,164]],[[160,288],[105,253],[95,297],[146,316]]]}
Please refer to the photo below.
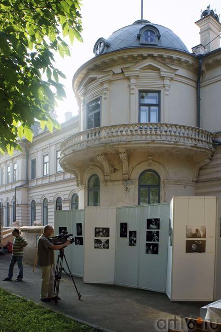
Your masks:
{"label": "pale green two-fold section of display wall with five dark photographs", "polygon": [[117,208],[115,283],[165,292],[168,232],[169,203]]}

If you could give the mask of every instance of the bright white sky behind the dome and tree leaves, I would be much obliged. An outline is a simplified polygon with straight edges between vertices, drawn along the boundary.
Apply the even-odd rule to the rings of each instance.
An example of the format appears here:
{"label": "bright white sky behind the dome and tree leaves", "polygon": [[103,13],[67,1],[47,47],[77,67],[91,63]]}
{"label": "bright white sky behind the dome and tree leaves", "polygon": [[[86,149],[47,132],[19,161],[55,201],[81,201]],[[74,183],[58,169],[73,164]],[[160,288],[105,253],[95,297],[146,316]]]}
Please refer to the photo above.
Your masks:
{"label": "bright white sky behind the dome and tree leaves", "polygon": [[[220,0],[211,0],[209,3],[204,0],[143,0],[143,19],[171,29],[192,52],[192,47],[200,44],[199,28],[195,22],[200,19],[201,10],[205,10],[208,5],[210,9],[216,9],[221,21]],[[74,73],[94,57],[93,47],[99,38],[107,39],[114,31],[140,19],[141,0],[83,0],[81,15],[84,42],[73,42],[70,57],[63,59],[59,55],[55,56],[57,68],[66,75],[66,80],[60,82],[64,85],[67,98],[59,101],[55,109],[60,123],[65,121],[65,112],[78,114],[71,83]]]}

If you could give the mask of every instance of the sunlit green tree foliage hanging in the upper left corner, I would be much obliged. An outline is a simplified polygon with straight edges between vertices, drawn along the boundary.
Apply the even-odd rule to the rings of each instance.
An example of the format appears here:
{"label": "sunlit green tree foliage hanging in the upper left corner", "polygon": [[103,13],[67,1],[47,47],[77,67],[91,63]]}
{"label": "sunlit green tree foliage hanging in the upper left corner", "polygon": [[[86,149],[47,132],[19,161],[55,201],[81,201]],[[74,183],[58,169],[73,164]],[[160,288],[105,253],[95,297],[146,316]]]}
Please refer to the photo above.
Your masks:
{"label": "sunlit green tree foliage hanging in the upper left corner", "polygon": [[[39,120],[52,132],[59,125],[50,116],[65,91],[63,73],[55,67],[55,52],[70,55],[81,38],[79,0],[0,1],[0,152],[20,149],[17,137],[32,140],[31,125]],[[47,79],[43,75],[46,73]]]}

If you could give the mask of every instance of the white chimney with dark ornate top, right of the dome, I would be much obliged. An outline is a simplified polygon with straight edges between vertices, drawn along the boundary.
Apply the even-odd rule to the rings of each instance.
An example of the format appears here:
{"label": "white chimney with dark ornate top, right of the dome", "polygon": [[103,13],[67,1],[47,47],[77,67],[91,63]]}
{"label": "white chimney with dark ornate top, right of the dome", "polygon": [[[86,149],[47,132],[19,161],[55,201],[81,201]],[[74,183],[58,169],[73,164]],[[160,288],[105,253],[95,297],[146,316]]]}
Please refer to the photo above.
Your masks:
{"label": "white chimney with dark ornate top, right of the dome", "polygon": [[205,47],[204,53],[220,48],[221,24],[219,16],[210,9],[210,6],[202,12],[201,19],[195,24],[200,28],[200,44]]}

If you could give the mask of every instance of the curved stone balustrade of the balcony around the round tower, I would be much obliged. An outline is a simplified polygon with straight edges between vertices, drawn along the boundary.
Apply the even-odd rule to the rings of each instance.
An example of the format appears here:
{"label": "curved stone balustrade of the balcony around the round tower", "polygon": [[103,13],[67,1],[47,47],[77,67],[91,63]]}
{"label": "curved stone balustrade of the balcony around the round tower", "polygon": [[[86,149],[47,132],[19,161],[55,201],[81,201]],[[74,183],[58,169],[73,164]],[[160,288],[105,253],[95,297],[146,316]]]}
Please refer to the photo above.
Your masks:
{"label": "curved stone balustrade of the balcony around the round tower", "polygon": [[166,123],[135,123],[88,129],[66,138],[61,143],[61,155],[87,149],[90,146],[115,143],[168,143],[212,149],[212,134],[191,126]]}

